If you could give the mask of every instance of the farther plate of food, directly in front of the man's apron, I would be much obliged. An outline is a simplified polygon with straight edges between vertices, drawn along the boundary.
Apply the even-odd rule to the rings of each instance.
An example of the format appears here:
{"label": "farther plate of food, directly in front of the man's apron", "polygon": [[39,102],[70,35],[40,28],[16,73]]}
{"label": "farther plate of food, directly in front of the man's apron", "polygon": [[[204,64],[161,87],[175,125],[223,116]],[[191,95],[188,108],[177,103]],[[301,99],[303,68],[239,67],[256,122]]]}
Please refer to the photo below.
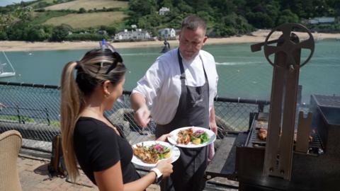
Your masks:
{"label": "farther plate of food, directly in front of the man's apron", "polygon": [[182,127],[170,132],[168,141],[179,147],[198,148],[216,140],[216,134],[203,127]]}

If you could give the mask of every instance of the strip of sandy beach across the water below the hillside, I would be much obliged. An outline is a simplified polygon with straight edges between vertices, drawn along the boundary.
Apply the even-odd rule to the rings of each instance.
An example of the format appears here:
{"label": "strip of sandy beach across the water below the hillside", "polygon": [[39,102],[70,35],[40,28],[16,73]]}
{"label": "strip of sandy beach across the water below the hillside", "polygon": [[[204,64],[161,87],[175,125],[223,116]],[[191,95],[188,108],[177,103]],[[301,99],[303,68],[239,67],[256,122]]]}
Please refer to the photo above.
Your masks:
{"label": "strip of sandy beach across the water below the hillside", "polygon": [[[208,38],[205,45],[223,45],[236,43],[264,42],[270,30],[256,30],[251,35],[242,35],[239,37]],[[271,39],[276,39],[280,33],[273,33]],[[307,33],[297,33],[301,40],[307,39]],[[339,39],[340,33],[312,33],[314,40]],[[171,47],[179,44],[178,40],[169,40]],[[162,47],[162,41],[146,42],[113,42],[115,48],[134,48],[134,47]],[[98,42],[81,41],[81,42],[24,42],[24,41],[0,41],[0,51],[34,51],[34,50],[77,50],[92,49],[98,47]]]}

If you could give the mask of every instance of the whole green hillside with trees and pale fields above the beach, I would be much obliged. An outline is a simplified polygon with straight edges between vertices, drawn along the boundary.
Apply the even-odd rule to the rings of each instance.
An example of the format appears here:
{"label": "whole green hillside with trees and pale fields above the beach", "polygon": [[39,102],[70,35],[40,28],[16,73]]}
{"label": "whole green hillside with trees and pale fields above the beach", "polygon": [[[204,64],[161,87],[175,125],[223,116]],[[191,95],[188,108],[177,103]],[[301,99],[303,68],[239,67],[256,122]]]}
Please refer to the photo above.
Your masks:
{"label": "whole green hillside with trees and pale fields above the beach", "polygon": [[[159,8],[170,9],[159,15]],[[307,25],[318,32],[340,33],[340,0],[35,0],[0,7],[0,40],[100,40],[137,25],[157,34],[180,28],[196,14],[208,23],[210,37],[242,35],[282,23],[314,17],[335,22]],[[107,33],[101,33],[105,30]]]}

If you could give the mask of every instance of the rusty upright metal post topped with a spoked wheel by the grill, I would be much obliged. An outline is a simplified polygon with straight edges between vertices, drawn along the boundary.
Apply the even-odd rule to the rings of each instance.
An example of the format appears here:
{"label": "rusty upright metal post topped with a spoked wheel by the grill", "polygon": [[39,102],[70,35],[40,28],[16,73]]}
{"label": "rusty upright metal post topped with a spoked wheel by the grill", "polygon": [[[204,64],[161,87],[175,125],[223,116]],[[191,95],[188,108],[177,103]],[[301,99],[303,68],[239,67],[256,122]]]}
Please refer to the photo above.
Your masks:
{"label": "rusty upright metal post topped with a spoked wheel by the grill", "polygon": [[[292,33],[295,29],[308,33],[310,38],[300,42],[299,37]],[[282,31],[283,34],[278,40],[268,41],[271,34],[276,30]],[[269,45],[272,43],[277,43],[277,45]],[[300,67],[305,65],[312,57],[314,39],[310,31],[303,25],[286,23],[271,30],[266,41],[252,45],[251,50],[253,52],[259,51],[261,46],[264,46],[264,54],[269,64],[274,67],[263,175],[290,180]],[[311,52],[305,62],[300,63],[302,49],[309,49]],[[274,62],[269,59],[271,54],[275,55]],[[306,124],[309,124],[309,122],[306,122]],[[305,146],[302,146],[300,149],[304,148]]]}

